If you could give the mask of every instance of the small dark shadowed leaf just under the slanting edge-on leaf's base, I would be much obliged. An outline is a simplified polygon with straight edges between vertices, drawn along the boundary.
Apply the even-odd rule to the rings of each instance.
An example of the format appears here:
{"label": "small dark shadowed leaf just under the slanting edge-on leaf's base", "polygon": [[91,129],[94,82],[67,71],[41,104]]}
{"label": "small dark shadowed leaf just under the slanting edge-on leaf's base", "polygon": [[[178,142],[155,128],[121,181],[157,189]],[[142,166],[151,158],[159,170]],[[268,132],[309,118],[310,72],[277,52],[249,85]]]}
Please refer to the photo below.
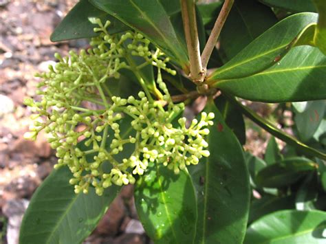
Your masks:
{"label": "small dark shadowed leaf just under the slanting edge-on leaf's base", "polygon": [[223,95],[215,99],[217,109],[223,115],[223,119],[237,136],[239,142],[243,145],[246,144],[246,127],[243,120],[243,115],[235,105],[230,103]]}

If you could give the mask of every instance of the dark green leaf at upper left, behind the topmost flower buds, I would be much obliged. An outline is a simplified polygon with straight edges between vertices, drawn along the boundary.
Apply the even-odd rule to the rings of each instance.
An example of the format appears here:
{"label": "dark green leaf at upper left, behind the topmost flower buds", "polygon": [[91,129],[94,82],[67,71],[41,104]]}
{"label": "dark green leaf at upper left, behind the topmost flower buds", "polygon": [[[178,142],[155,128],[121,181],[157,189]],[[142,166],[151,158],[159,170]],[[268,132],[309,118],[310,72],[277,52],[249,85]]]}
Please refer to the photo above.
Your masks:
{"label": "dark green leaf at upper left, behind the topmost flower buds", "polygon": [[102,23],[109,20],[108,32],[110,34],[124,32],[129,30],[127,25],[124,25],[118,19],[113,18],[106,12],[95,8],[88,0],[80,0],[72,10],[65,16],[63,21],[59,23],[50,39],[51,41],[65,41],[76,38],[90,38],[97,36],[98,33],[93,31],[94,25],[92,19],[100,19]]}

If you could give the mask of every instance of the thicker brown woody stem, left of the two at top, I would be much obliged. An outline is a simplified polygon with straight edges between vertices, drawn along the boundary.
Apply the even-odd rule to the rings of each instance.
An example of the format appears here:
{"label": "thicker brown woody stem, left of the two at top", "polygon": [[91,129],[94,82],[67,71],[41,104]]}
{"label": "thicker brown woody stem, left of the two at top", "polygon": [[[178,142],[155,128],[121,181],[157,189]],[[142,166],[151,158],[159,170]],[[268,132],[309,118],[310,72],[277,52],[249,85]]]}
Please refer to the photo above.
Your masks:
{"label": "thicker brown woody stem, left of the two at top", "polygon": [[205,72],[200,58],[199,38],[195,13],[195,1],[180,0],[184,34],[190,59],[190,78],[195,83],[204,81]]}

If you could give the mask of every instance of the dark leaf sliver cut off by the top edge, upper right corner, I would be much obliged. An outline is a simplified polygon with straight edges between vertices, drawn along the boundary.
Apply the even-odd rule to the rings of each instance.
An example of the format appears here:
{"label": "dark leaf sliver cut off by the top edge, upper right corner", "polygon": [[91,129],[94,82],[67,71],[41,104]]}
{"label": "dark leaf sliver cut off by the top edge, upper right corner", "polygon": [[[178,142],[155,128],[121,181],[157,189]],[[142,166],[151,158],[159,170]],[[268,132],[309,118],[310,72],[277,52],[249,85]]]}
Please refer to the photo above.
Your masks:
{"label": "dark leaf sliver cut off by the top edge, upper right corner", "polygon": [[290,12],[316,12],[316,8],[312,0],[259,0],[271,7],[283,8]]}

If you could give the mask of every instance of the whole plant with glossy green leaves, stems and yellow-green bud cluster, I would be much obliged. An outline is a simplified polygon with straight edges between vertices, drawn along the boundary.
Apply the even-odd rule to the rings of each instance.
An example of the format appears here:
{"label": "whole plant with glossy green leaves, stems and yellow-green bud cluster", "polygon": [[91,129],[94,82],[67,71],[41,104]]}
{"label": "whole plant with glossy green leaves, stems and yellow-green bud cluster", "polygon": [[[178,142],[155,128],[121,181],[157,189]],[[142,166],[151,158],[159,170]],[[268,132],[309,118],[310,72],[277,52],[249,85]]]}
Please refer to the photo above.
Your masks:
{"label": "whole plant with glossy green leaves, stems and yellow-green bud cluster", "polygon": [[[34,112],[25,137],[45,131],[58,164],[32,197],[20,243],[81,243],[127,184],[155,243],[325,242],[325,102],[295,111],[296,137],[239,102],[326,98],[325,8],[79,1],[51,38],[91,47],[56,54],[25,100]],[[187,120],[199,96],[206,107]],[[292,153],[272,139],[265,161],[245,154],[243,115]],[[318,188],[312,198],[308,186]]]}

